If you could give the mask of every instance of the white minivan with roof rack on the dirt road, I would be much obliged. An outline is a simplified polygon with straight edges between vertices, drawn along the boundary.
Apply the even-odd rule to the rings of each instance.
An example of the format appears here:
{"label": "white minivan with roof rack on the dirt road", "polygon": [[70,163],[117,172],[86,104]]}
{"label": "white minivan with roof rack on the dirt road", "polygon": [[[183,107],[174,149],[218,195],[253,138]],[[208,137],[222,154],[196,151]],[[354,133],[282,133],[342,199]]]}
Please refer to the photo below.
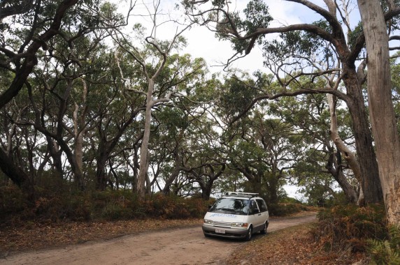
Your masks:
{"label": "white minivan with roof rack on the dirt road", "polygon": [[210,206],[203,220],[204,236],[241,238],[266,234],[269,213],[258,193],[228,192]]}

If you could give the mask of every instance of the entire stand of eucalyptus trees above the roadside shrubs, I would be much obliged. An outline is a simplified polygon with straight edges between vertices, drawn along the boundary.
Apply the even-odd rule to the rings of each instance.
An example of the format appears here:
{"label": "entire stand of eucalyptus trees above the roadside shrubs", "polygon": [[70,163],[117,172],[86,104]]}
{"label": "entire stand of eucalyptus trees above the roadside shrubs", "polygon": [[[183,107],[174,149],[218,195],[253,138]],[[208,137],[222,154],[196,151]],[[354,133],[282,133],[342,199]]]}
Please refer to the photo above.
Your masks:
{"label": "entire stand of eucalyptus trees above the roadside shrubs", "polygon": [[[3,1],[1,185],[32,203],[51,179],[141,199],[246,190],[276,204],[291,183],[310,202],[341,190],[351,203],[385,199],[394,212],[387,195],[398,193],[400,159],[381,146],[399,137],[397,1],[373,7],[385,50],[371,44],[372,0],[287,2],[313,21],[278,24],[262,0],[243,10],[207,0],[174,10],[161,1]],[[183,52],[192,27],[229,40],[227,66],[257,48],[265,68],[211,73]]]}

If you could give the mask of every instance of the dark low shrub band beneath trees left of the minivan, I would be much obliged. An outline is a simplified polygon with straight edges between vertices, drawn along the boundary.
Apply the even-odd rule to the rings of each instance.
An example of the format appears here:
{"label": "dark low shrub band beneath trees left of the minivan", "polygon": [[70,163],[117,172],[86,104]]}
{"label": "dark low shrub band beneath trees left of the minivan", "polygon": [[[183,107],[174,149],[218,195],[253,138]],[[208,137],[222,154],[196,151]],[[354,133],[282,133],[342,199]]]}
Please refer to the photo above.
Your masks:
{"label": "dark low shrub band beneath trees left of the minivan", "polygon": [[45,188],[37,188],[35,202],[28,204],[20,189],[13,186],[1,187],[0,202],[0,221],[3,222],[202,218],[210,204],[200,198],[161,193],[142,202],[131,190],[53,192]]}

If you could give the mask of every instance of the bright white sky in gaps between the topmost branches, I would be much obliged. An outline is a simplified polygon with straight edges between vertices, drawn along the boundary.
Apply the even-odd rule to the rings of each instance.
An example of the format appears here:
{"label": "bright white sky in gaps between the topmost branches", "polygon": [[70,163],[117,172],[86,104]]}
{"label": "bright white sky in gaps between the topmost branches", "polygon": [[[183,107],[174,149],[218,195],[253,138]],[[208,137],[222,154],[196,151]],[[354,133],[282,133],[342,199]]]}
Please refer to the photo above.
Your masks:
{"label": "bright white sky in gaps between the topmost branches", "polygon": [[[122,13],[126,12],[127,0],[114,0],[117,1],[119,8]],[[306,12],[305,8],[299,10],[299,4],[280,1],[280,0],[265,0],[269,6],[270,14],[276,20],[274,22],[275,26],[282,24],[293,24],[299,23],[301,21],[306,22],[310,20],[310,16],[313,13]],[[175,17],[182,16],[183,10],[175,10],[174,6],[178,3],[176,0],[162,0],[162,8],[160,8],[160,13],[173,15]],[[313,1],[315,3],[321,3],[322,0]],[[248,0],[231,0],[230,8],[231,10],[243,10],[247,5]],[[131,21],[140,22],[141,24],[148,25],[148,29],[151,29],[150,17],[145,17],[143,15],[148,14],[149,10],[153,10],[152,7],[153,0],[140,0],[136,1],[136,7],[134,8],[134,17]],[[146,7],[147,6],[147,7]],[[139,16],[140,15],[140,16]],[[159,16],[157,18],[157,24],[166,19],[167,15]],[[181,17],[182,19],[182,17]],[[176,26],[174,27],[172,23],[162,24],[157,28],[157,36],[160,39],[169,40],[173,38],[176,32]],[[192,27],[192,29],[185,31],[183,36],[187,38],[188,45],[183,50],[183,53],[192,54],[193,57],[202,57],[206,59],[207,63],[210,65],[210,70],[212,72],[218,72],[222,70],[222,67],[217,67],[220,63],[226,62],[232,55],[234,51],[231,49],[231,44],[228,41],[222,41],[215,38],[215,34],[206,27]],[[262,69],[262,52],[258,47],[248,54],[243,59],[235,61],[232,65],[233,68],[241,68],[242,70],[247,70],[253,73],[257,69]]]}

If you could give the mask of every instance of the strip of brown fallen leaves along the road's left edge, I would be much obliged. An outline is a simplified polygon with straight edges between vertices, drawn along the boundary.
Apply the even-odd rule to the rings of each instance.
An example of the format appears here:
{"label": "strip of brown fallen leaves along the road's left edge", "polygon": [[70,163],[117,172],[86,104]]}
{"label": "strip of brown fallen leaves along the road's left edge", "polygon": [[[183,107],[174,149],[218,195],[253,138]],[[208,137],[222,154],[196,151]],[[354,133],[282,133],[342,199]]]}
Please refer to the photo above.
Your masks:
{"label": "strip of brown fallen leaves along the road's left edge", "polygon": [[190,220],[120,220],[104,222],[28,222],[0,227],[0,252],[18,252],[57,248],[64,245],[113,239],[159,229],[201,225],[202,219]]}

